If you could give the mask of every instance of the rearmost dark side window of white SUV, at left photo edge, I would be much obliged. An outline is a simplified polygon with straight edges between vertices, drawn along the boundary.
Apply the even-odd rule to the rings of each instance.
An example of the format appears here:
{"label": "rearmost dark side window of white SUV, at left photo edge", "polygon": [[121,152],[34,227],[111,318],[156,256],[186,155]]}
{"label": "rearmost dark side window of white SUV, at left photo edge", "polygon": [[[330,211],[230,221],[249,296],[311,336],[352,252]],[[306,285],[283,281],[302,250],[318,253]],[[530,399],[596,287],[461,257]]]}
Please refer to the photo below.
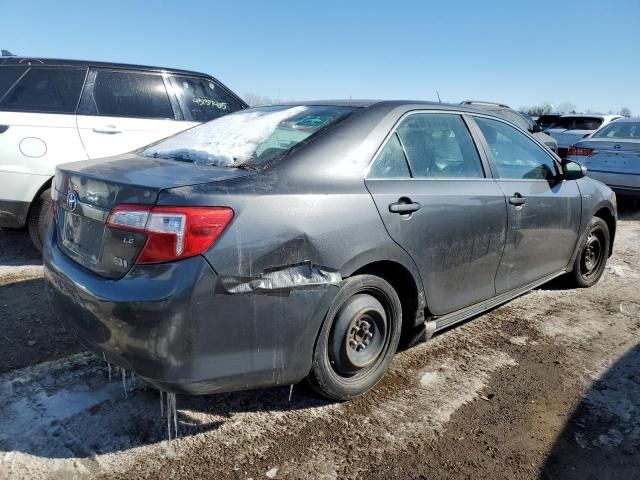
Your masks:
{"label": "rearmost dark side window of white SUV, at left photo edge", "polygon": [[0,101],[3,110],[75,113],[85,69],[30,68]]}

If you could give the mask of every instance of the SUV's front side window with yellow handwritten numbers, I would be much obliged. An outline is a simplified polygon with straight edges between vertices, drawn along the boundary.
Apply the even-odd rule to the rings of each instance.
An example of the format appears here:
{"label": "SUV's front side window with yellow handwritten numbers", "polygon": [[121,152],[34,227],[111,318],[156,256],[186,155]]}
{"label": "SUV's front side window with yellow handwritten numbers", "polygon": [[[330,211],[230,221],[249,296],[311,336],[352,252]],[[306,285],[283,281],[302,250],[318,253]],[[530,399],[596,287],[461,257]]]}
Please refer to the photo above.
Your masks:
{"label": "SUV's front side window with yellow handwritten numbers", "polygon": [[208,122],[242,108],[220,85],[206,78],[170,77],[185,120]]}

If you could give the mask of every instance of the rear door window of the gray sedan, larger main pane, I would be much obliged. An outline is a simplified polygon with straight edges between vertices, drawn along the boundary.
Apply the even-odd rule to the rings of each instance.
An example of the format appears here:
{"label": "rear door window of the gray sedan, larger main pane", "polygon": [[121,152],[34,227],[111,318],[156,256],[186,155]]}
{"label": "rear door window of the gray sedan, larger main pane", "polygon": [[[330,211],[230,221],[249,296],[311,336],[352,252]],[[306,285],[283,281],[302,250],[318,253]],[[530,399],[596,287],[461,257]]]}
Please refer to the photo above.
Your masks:
{"label": "rear door window of the gray sedan, larger main pane", "polygon": [[415,177],[484,177],[480,156],[460,115],[412,114],[397,132]]}

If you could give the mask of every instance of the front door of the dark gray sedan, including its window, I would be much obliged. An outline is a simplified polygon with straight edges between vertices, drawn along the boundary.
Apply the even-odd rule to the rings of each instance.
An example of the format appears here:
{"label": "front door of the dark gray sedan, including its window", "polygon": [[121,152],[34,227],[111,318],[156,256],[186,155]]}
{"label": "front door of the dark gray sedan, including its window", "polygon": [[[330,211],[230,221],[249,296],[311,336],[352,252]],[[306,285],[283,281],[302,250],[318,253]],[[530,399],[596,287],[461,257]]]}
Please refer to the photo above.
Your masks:
{"label": "front door of the dark gray sedan, including its window", "polygon": [[576,182],[563,180],[551,154],[530,136],[497,119],[474,120],[508,203],[509,229],[496,276],[500,294],[567,266],[582,198]]}

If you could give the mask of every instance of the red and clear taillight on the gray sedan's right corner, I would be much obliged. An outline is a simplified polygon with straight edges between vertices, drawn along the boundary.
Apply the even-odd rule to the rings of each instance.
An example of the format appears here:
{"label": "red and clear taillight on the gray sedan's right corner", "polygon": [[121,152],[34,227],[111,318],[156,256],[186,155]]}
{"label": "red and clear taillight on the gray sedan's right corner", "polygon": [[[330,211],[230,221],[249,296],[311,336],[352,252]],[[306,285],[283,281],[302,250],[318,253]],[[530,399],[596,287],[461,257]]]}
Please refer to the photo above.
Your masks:
{"label": "red and clear taillight on the gray sedan's right corner", "polygon": [[228,207],[117,205],[107,225],[143,232],[147,242],[137,263],[159,263],[199,255],[210,248],[233,219]]}

